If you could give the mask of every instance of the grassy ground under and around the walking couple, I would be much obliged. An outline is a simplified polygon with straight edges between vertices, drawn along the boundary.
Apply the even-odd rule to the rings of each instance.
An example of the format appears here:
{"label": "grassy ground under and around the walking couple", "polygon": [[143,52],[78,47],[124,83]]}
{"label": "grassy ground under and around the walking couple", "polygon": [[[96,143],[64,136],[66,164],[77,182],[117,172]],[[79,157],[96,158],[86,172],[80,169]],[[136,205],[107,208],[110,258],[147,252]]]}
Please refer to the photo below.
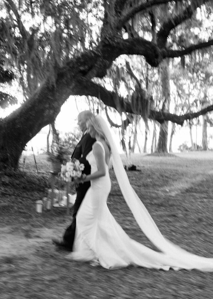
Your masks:
{"label": "grassy ground under and around the walking couple", "polygon": [[[125,158],[122,156],[125,164]],[[51,237],[61,236],[71,221],[64,210],[36,213],[35,202],[47,194],[51,169],[45,155],[27,157],[24,169],[0,173],[0,289],[2,299],[213,297],[213,273],[158,271],[128,267],[109,271],[88,263],[68,262]],[[213,153],[132,156],[141,171],[129,180],[162,234],[186,250],[213,257]],[[143,236],[118,188],[113,170],[108,205],[135,240]],[[63,188],[63,182],[57,181]],[[71,211],[72,214],[72,211]]]}

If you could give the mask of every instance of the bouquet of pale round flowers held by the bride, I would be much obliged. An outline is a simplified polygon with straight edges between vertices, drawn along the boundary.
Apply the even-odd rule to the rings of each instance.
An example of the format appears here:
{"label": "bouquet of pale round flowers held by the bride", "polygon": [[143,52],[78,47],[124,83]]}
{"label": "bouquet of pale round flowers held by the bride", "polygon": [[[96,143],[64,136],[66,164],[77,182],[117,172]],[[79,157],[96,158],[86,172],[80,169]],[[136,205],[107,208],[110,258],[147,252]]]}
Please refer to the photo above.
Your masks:
{"label": "bouquet of pale round flowers held by the bride", "polygon": [[61,165],[61,177],[66,182],[70,182],[76,179],[83,179],[84,175],[82,174],[84,170],[84,164],[80,163],[77,159],[71,159],[67,162],[66,165]]}

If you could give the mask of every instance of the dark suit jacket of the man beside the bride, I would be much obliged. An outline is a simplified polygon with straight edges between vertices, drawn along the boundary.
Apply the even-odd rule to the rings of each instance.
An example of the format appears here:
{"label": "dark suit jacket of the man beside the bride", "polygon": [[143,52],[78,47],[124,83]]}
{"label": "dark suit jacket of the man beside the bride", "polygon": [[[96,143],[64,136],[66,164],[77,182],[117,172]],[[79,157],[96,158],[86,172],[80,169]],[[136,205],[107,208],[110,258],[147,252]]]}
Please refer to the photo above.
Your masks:
{"label": "dark suit jacket of the man beside the bride", "polygon": [[[84,170],[82,173],[90,174],[91,172],[91,166],[89,165],[89,162],[86,160],[87,154],[91,152],[92,145],[96,141],[96,139],[92,138],[89,133],[86,133],[82,136],[81,140],[76,145],[74,152],[72,153],[71,158],[78,159],[81,163],[84,164]],[[77,191],[80,191],[82,188],[86,187],[90,182],[85,182],[84,184],[79,184],[79,187],[76,189]]]}

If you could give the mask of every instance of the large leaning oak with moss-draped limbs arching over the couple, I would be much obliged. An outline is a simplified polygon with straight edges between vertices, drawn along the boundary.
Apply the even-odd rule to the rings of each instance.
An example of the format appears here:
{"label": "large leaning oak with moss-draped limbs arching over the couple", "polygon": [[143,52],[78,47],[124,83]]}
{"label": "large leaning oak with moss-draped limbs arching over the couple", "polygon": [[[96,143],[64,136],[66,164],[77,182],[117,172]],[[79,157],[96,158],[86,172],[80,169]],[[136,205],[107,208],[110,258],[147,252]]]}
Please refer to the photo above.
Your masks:
{"label": "large leaning oak with moss-draped limbs arching over the couple", "polygon": [[140,55],[150,66],[158,67],[168,58],[209,51],[211,31],[203,39],[173,41],[181,26],[184,30],[196,26],[199,8],[206,11],[206,19],[211,16],[212,1],[5,0],[0,5],[6,14],[0,23],[0,53],[9,57],[11,71],[26,97],[20,108],[0,121],[0,163],[4,166],[18,166],[24,146],[55,120],[71,95],[97,97],[118,112],[159,123],[170,120],[182,125],[186,119],[213,110],[211,105],[185,115],[156,111],[145,91],[137,97],[133,93],[131,101],[97,81],[124,54]]}

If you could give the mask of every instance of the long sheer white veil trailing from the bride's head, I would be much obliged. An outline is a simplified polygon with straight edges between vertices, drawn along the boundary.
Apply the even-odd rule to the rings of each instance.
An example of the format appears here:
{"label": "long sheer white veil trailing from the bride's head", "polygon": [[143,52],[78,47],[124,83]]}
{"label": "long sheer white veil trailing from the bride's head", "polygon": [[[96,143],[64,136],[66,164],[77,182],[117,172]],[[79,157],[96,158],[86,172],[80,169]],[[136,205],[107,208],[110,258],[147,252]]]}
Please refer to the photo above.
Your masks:
{"label": "long sheer white veil trailing from the bride's head", "polygon": [[191,254],[163,237],[149,212],[141,202],[141,199],[129,183],[120,154],[118,153],[106,121],[99,115],[96,116],[96,120],[101,126],[110,145],[112,164],[121,192],[129,209],[132,211],[136,222],[146,237],[156,246],[156,248],[166,254],[166,256],[172,257],[177,262],[180,262],[180,268],[213,271],[213,258],[200,257]]}

